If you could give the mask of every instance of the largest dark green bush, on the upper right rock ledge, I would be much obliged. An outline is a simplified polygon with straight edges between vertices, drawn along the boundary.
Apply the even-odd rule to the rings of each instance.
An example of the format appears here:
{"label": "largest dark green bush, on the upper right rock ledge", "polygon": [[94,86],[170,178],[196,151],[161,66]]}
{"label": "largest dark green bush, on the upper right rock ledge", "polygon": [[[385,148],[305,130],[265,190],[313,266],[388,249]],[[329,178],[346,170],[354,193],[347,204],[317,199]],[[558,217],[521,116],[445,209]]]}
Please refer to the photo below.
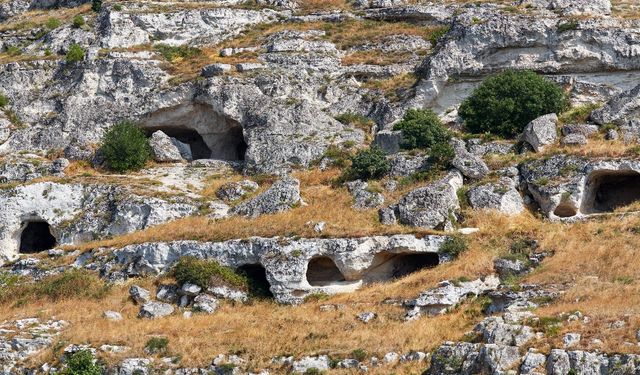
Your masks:
{"label": "largest dark green bush, on the upper right rock ledge", "polygon": [[460,106],[472,133],[514,137],[532,120],[567,108],[558,85],[528,70],[507,70],[486,79]]}

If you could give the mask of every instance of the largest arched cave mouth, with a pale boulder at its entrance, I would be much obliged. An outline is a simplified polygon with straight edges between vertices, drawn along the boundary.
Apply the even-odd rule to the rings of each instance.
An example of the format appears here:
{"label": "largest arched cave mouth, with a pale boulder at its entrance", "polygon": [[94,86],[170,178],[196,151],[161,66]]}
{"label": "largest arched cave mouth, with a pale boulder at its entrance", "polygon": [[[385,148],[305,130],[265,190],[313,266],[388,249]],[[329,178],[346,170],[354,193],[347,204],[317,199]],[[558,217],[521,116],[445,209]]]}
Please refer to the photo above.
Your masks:
{"label": "largest arched cave mouth, with a pale boulder at its entrance", "polygon": [[188,144],[194,159],[242,161],[247,151],[242,125],[208,104],[164,108],[142,118],[140,124],[149,134],[162,130]]}

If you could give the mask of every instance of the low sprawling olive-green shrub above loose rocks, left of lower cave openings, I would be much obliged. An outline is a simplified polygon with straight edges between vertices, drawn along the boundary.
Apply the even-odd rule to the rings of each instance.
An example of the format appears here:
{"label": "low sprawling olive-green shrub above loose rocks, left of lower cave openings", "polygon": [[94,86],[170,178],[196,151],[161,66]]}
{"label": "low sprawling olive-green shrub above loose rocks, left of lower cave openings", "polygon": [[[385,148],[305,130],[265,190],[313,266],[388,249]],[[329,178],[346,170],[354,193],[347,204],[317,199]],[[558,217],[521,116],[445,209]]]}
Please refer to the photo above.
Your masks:
{"label": "low sprawling olive-green shrub above loose rocks, left of lower cave openings", "polygon": [[172,274],[179,284],[192,283],[201,288],[220,283],[243,289],[248,289],[249,286],[246,276],[215,260],[183,257],[174,266]]}

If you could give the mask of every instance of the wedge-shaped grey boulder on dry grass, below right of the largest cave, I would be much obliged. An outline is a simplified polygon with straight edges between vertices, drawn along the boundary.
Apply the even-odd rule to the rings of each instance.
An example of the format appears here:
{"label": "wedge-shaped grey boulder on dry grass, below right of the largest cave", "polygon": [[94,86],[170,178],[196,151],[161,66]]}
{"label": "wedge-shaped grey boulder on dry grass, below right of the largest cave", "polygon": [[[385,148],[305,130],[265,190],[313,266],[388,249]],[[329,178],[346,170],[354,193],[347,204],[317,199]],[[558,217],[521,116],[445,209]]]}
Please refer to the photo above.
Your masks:
{"label": "wedge-shaped grey boulder on dry grass, below right of the largest cave", "polygon": [[293,177],[286,177],[276,181],[264,193],[237,205],[231,213],[258,217],[290,210],[300,201],[300,181]]}

